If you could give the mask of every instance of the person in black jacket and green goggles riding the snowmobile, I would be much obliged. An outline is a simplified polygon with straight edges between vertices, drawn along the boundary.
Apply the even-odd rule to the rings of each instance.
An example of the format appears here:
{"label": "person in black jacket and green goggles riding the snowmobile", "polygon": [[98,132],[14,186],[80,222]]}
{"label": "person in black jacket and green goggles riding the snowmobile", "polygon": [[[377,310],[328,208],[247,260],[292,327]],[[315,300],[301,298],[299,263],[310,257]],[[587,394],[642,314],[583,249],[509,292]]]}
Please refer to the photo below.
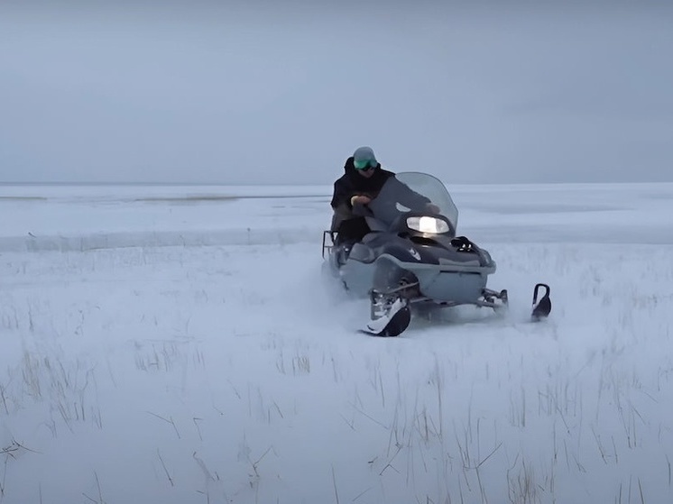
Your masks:
{"label": "person in black jacket and green goggles riding the snowmobile", "polygon": [[[337,241],[359,242],[369,232],[364,217],[355,215],[355,205],[367,205],[376,197],[388,179],[394,178],[392,171],[383,170],[376,160],[371,147],[358,147],[344,165],[344,175],[334,183],[332,196],[331,231],[336,231]],[[400,183],[401,184],[401,183]],[[413,206],[427,206],[429,211],[438,212],[438,207],[430,203],[427,197],[408,189],[408,198]]]}

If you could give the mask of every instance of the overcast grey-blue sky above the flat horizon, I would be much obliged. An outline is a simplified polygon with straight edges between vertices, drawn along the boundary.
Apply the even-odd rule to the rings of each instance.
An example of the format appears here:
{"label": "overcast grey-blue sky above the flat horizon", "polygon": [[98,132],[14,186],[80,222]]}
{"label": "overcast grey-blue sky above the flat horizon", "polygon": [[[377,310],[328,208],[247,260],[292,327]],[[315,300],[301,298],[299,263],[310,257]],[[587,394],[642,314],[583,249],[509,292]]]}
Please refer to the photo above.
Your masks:
{"label": "overcast grey-blue sky above the flat horizon", "polygon": [[0,0],[0,182],[673,180],[666,2],[277,4]]}

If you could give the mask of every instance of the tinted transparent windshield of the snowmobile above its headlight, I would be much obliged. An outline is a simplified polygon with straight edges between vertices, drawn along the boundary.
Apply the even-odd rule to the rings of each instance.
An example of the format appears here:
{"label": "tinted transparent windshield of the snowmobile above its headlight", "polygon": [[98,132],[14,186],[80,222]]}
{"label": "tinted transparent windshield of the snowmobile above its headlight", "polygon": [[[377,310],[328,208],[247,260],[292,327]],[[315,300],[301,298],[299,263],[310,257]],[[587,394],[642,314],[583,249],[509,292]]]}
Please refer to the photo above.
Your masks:
{"label": "tinted transparent windshield of the snowmobile above its headlight", "polygon": [[374,218],[390,225],[400,214],[425,212],[430,204],[437,206],[438,213],[447,217],[454,229],[457,229],[458,209],[447,188],[439,179],[427,173],[402,172],[386,180],[369,208]]}

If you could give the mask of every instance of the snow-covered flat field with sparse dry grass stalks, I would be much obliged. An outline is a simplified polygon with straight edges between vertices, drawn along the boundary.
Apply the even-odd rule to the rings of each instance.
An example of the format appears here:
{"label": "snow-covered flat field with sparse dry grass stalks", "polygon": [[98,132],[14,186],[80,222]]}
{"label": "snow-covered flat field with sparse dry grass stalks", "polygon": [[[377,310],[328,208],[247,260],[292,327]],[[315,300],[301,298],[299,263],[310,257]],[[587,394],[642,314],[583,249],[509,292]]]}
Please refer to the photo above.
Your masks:
{"label": "snow-covered flat field with sparse dry grass stalks", "polygon": [[673,184],[449,190],[510,314],[385,339],[329,187],[0,187],[0,501],[673,500]]}

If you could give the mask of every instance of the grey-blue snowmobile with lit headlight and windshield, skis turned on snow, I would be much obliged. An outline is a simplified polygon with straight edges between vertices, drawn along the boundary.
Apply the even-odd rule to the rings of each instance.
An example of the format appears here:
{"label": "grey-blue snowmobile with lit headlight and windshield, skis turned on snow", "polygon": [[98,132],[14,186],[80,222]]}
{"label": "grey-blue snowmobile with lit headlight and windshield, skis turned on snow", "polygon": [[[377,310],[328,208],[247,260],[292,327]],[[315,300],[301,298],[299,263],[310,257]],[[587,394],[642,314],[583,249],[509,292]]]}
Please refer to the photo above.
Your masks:
{"label": "grey-blue snowmobile with lit headlight and windshield, skis turned on snow", "polygon": [[[370,299],[371,321],[364,333],[401,334],[410,325],[412,306],[506,309],[507,290],[486,287],[495,261],[457,235],[458,209],[435,177],[398,173],[368,205],[355,204],[353,211],[366,225],[364,237],[353,243],[341,236],[342,228],[325,231],[322,255],[326,269],[348,292]],[[538,299],[540,288],[546,292]],[[550,309],[549,286],[536,285],[531,318],[544,318]]]}

